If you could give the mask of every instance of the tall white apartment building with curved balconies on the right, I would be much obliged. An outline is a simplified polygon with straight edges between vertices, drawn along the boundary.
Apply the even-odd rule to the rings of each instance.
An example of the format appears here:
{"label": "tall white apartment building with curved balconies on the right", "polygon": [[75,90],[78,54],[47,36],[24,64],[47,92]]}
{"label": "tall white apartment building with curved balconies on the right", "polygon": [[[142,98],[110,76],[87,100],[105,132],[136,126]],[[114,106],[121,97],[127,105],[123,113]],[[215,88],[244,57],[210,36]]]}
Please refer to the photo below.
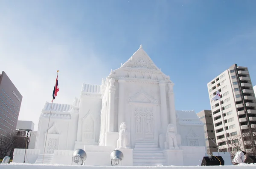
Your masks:
{"label": "tall white apartment building with curved balconies on the right", "polygon": [[[234,64],[212,79],[207,87],[218,146],[227,151],[228,140],[230,152],[255,150],[256,98],[248,68]],[[211,100],[217,90],[221,101]],[[236,146],[236,142],[241,144]]]}

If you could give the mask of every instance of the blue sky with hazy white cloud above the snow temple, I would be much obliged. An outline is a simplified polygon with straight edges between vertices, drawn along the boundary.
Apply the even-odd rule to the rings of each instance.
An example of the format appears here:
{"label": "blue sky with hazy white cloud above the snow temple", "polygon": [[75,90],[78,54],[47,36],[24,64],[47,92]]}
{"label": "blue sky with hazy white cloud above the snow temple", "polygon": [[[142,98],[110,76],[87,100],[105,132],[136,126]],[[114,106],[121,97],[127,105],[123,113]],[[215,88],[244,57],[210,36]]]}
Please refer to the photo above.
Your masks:
{"label": "blue sky with hazy white cloud above the snow temple", "polygon": [[35,127],[51,101],[72,103],[143,45],[175,83],[177,110],[210,109],[207,83],[234,63],[256,85],[254,0],[0,0],[0,70]]}

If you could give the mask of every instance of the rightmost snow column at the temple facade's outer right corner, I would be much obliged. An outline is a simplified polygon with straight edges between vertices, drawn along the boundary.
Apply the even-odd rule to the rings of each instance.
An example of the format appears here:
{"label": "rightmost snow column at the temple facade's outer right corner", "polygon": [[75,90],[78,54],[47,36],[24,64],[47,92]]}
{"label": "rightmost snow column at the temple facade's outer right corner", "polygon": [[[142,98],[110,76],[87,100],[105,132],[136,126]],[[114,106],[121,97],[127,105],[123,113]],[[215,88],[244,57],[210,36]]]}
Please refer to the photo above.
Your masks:
{"label": "rightmost snow column at the temple facade's outer right corner", "polygon": [[170,109],[170,121],[175,126],[175,132],[177,132],[177,122],[176,122],[176,110],[175,101],[173,93],[173,83],[169,83],[168,98],[169,98],[169,109]]}

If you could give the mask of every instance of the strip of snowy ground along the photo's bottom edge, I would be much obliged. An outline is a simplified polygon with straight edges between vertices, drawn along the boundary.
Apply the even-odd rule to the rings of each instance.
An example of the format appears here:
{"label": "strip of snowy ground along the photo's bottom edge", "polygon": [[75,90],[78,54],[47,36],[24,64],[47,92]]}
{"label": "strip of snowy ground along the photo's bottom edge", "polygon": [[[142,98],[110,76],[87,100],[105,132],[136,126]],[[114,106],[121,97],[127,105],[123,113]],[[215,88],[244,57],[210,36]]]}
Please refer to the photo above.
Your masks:
{"label": "strip of snowy ground along the photo's bottom edge", "polygon": [[[0,169],[104,169],[111,168],[113,166],[67,166],[59,164],[23,164],[23,163],[10,163],[0,164]],[[256,164],[240,164],[238,166],[114,166],[115,169],[132,169],[132,168],[144,168],[144,169],[256,169]]]}

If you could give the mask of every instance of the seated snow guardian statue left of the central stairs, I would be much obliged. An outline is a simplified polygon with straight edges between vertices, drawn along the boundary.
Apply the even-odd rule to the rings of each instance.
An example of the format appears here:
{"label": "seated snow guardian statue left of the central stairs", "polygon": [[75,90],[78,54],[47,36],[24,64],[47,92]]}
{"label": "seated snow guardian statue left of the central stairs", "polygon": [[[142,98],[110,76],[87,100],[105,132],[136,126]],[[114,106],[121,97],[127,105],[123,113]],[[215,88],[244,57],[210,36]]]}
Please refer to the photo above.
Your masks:
{"label": "seated snow guardian statue left of the central stairs", "polygon": [[128,149],[130,148],[129,141],[130,133],[127,131],[126,123],[122,122],[119,129],[119,138],[117,140],[117,149]]}

